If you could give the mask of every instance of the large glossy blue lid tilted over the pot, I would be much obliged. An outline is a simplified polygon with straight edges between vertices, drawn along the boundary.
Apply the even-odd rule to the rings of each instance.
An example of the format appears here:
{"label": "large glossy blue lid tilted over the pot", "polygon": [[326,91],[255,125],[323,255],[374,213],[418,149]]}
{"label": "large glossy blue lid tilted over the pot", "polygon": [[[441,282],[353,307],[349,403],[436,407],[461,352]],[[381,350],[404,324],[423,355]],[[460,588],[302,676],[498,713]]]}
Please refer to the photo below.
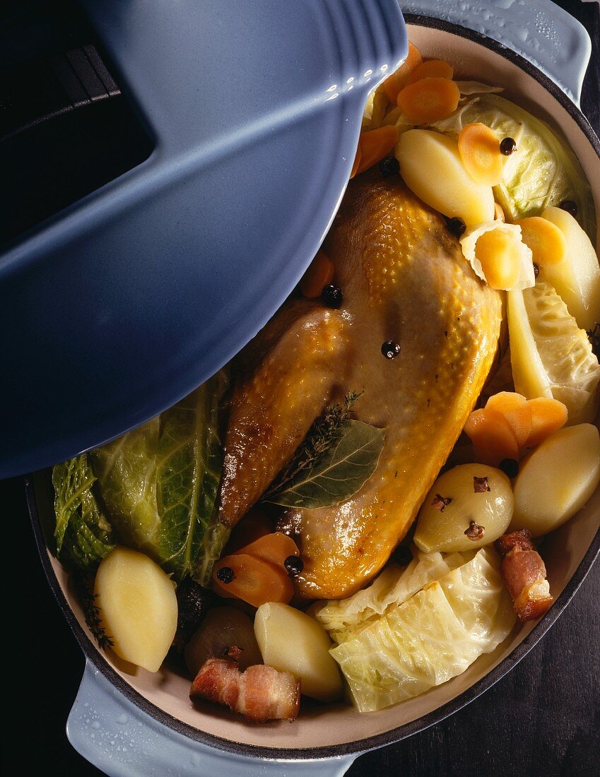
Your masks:
{"label": "large glossy blue lid tilted over the pot", "polygon": [[0,256],[0,477],[186,395],[281,305],[344,193],[396,0],[82,0],[149,158]]}

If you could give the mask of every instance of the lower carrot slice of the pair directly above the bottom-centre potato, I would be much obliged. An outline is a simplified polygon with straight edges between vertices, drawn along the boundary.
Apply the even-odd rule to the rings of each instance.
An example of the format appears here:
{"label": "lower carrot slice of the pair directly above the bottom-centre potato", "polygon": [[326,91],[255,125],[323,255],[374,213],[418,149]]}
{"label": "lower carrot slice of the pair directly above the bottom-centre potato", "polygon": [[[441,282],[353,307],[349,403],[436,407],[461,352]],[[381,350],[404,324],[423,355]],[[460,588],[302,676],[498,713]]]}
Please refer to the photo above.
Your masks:
{"label": "lower carrot slice of the pair directly above the bottom-centre potato", "polygon": [[[219,572],[223,580],[219,580]],[[228,583],[224,580],[231,577]],[[288,604],[294,594],[287,573],[256,556],[235,553],[224,556],[215,564],[212,573],[215,590],[226,598],[242,599],[253,607],[260,607],[266,601],[283,601]]]}

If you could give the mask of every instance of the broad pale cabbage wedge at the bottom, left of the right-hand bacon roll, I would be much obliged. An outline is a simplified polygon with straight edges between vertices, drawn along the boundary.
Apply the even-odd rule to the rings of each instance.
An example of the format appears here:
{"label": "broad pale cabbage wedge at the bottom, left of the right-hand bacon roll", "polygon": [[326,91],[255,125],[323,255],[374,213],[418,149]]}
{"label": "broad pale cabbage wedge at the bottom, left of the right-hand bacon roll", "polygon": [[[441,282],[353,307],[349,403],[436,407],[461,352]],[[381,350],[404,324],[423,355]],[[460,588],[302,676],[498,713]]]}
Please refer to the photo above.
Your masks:
{"label": "broad pale cabbage wedge at the bottom, left of the right-hand bacon roll", "polygon": [[482,548],[330,653],[354,705],[367,713],[461,674],[508,636],[515,619],[500,559]]}

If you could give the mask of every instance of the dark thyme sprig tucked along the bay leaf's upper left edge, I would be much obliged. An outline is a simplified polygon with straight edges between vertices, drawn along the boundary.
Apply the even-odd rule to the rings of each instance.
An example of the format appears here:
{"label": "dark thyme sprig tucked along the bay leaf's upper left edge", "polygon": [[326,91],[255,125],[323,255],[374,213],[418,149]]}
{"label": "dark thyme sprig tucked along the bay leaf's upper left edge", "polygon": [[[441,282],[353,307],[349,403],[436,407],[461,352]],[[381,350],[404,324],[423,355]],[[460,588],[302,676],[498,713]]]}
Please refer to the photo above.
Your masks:
{"label": "dark thyme sprig tucked along the bay leaf's upper left edge", "polygon": [[273,483],[263,493],[262,500],[267,502],[275,493],[284,491],[295,478],[305,469],[315,464],[319,456],[328,451],[336,438],[336,433],[342,423],[347,420],[348,413],[361,398],[363,392],[349,392],[344,397],[344,404],[328,407],[315,421],[306,433],[301,444],[296,448],[291,462],[281,470]]}

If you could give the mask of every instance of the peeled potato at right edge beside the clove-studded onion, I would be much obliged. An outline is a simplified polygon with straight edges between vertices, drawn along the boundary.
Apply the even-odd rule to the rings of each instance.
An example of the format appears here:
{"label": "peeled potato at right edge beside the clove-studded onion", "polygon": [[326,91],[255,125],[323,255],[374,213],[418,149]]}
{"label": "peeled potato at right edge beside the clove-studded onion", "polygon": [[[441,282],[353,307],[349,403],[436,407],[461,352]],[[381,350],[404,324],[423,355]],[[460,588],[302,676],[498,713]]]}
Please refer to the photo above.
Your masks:
{"label": "peeled potato at right edge beside the clove-studded onion", "polygon": [[515,481],[511,531],[534,537],[568,521],[600,483],[600,435],[591,423],[564,427],[542,442]]}

